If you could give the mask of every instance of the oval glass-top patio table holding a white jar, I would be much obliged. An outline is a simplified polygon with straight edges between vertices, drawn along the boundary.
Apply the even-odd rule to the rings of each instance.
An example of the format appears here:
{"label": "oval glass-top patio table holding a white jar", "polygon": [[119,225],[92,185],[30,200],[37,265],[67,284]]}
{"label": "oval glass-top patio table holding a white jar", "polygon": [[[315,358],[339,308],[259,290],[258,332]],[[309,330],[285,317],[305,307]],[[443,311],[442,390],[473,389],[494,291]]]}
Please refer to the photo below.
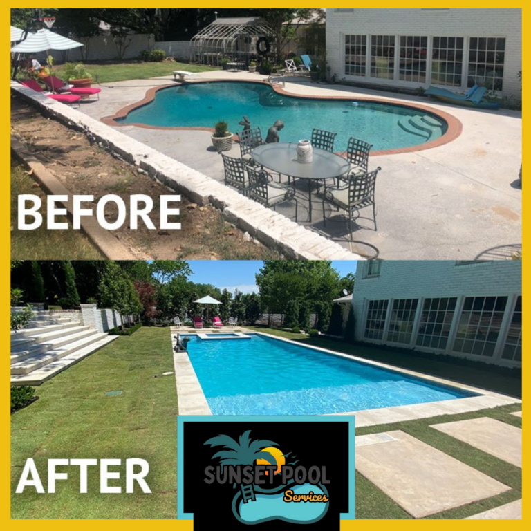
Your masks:
{"label": "oval glass-top patio table holding a white jar", "polygon": [[308,221],[312,221],[312,183],[346,174],[351,165],[342,156],[325,149],[313,148],[313,161],[303,164],[297,161],[297,144],[263,144],[254,148],[251,157],[257,164],[308,181]]}

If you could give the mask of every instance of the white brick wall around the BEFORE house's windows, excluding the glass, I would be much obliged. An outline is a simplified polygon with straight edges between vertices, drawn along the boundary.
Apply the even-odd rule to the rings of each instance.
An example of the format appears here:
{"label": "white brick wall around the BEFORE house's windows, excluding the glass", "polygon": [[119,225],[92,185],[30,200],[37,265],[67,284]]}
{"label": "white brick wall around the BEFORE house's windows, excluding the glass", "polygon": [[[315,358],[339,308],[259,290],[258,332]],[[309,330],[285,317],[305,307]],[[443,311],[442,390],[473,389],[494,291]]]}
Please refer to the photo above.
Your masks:
{"label": "white brick wall around the BEFORE house's windows, excluding the glass", "polygon": [[[522,69],[522,12],[517,9],[328,9],[326,52],[337,79],[363,81],[345,75],[345,35],[421,35],[436,37],[505,37],[503,94],[521,99],[517,74]],[[466,41],[467,39],[465,39]],[[369,41],[368,41],[369,43]],[[409,86],[420,83],[396,80],[366,82]],[[466,80],[465,80],[466,81]],[[426,86],[429,86],[427,82]]]}

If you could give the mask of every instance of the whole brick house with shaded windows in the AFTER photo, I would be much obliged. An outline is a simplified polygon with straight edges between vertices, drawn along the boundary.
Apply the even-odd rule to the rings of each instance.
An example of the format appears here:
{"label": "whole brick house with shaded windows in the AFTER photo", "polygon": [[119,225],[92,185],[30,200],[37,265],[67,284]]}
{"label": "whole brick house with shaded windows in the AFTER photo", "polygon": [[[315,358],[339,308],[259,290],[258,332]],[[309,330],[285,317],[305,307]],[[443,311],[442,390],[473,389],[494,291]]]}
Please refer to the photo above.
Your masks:
{"label": "whole brick house with shaded windows in the AFTER photo", "polygon": [[521,366],[521,275],[519,261],[359,262],[356,339]]}

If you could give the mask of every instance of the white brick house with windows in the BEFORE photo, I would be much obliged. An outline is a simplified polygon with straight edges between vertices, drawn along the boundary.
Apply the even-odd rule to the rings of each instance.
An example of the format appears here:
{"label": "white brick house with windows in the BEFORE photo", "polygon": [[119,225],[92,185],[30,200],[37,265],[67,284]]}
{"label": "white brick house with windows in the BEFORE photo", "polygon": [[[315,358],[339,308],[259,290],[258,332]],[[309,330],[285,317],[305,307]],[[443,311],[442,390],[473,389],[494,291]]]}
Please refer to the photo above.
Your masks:
{"label": "white brick house with windows in the BEFORE photo", "polygon": [[326,60],[337,80],[521,100],[522,10],[328,9]]}

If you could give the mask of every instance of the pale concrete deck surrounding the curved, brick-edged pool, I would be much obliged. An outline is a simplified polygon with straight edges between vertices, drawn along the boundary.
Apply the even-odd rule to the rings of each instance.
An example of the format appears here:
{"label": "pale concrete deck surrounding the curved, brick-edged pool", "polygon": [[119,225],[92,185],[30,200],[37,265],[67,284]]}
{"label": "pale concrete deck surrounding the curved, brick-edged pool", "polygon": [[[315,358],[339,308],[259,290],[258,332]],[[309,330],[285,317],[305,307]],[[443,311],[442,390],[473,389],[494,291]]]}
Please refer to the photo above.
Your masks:
{"label": "pale concrete deck surrounding the curved, brick-edged pool", "polygon": [[[226,71],[201,73],[196,78],[264,79],[258,74]],[[83,104],[80,110],[101,120],[142,100],[149,89],[173,83],[172,77],[167,76],[104,84],[100,101]],[[506,259],[521,250],[522,192],[516,185],[522,151],[521,112],[481,111],[425,97],[311,84],[299,78],[286,78],[284,90],[293,95],[418,103],[449,113],[463,124],[461,135],[446,145],[371,157],[369,169],[383,168],[376,187],[378,232],[373,230],[370,218],[361,218],[353,234],[355,243],[347,241],[345,223],[323,226],[321,198],[317,196],[313,198],[314,221],[308,223],[306,187],[301,187],[298,194],[301,225],[332,237],[364,257],[378,254],[382,259]],[[271,122],[274,120],[272,109]],[[236,124],[230,126],[233,132],[239,130]],[[333,129],[333,124],[315,127]],[[218,182],[223,180],[223,162],[212,149],[209,131],[130,125],[117,129]],[[228,154],[239,156],[239,147],[234,145]],[[292,210],[295,209],[290,206],[279,208],[288,217],[295,213]],[[363,216],[367,214],[371,213],[362,212]]]}

